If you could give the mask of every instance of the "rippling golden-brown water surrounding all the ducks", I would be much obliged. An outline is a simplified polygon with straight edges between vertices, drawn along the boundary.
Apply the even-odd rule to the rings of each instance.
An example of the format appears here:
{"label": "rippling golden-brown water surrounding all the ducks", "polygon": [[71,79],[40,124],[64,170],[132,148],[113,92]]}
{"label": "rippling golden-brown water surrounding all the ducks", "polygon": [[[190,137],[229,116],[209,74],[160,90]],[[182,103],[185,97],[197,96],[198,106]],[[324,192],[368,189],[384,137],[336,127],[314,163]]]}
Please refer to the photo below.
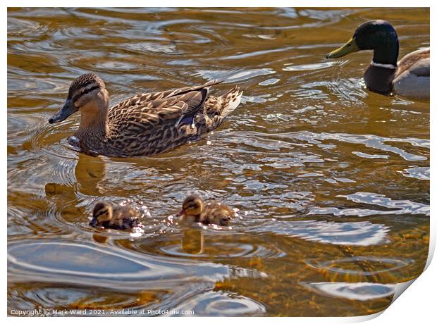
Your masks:
{"label": "rippling golden-brown water surrounding all the ducks", "polygon": [[[8,312],[135,309],[358,316],[417,277],[429,245],[429,102],[364,89],[371,60],[325,56],[369,19],[400,56],[429,46],[429,10],[8,10]],[[70,82],[98,73],[115,104],[226,78],[242,104],[208,137],[151,158],[79,154],[79,116],[49,125]],[[238,208],[232,228],[178,225],[192,192]],[[144,232],[87,224],[97,199]]]}

